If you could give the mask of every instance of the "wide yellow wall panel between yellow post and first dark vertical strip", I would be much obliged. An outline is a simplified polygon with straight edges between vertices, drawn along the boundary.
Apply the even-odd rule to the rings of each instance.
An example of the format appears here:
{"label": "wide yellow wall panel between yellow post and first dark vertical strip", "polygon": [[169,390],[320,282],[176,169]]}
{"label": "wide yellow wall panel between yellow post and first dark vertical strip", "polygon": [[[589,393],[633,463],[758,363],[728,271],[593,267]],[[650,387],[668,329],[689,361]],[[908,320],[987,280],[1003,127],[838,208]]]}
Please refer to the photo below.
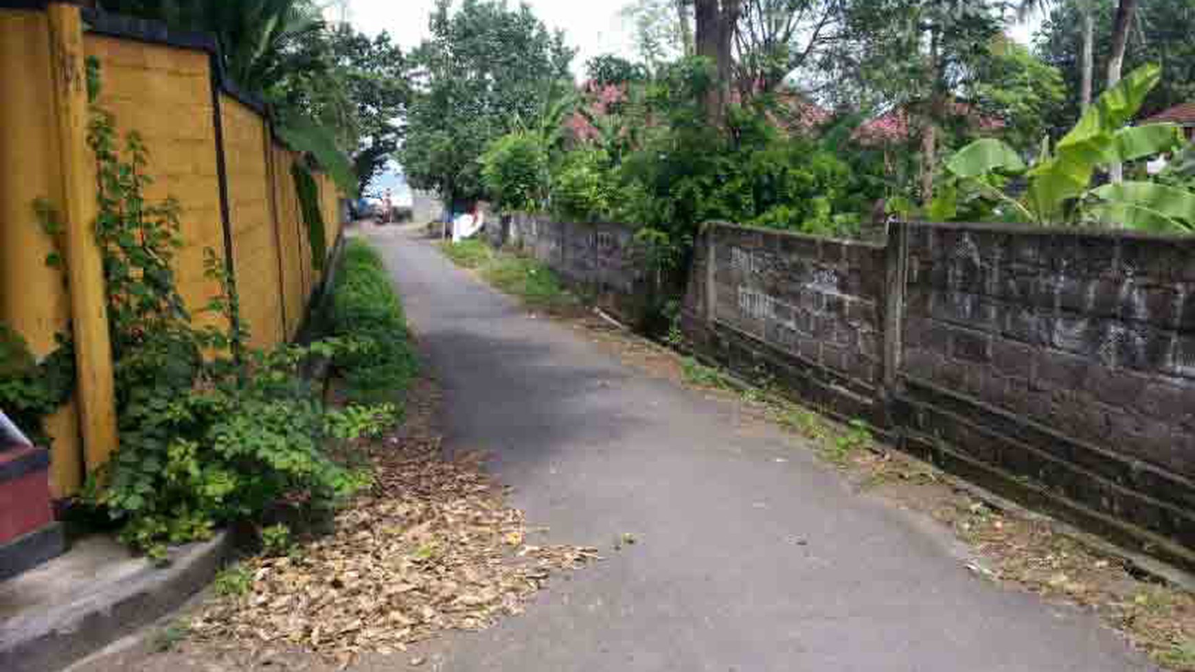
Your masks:
{"label": "wide yellow wall panel between yellow post and first dark vertical strip", "polygon": [[[100,62],[99,105],[116,116],[122,137],[135,130],[148,148],[154,184],[147,197],[172,196],[182,206],[178,286],[188,308],[198,313],[220,291],[206,276],[204,248],[223,259],[208,54],[91,35],[85,47]],[[196,315],[204,325],[215,319]]]}

